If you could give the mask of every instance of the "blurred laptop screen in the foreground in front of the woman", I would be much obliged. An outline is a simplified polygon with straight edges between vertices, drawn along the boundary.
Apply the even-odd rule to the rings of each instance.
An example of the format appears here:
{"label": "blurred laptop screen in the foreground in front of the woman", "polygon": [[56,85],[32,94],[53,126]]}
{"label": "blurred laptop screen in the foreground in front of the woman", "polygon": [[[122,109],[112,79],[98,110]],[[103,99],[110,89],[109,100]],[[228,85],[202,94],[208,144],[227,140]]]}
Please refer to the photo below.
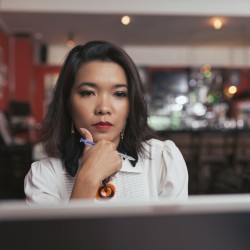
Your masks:
{"label": "blurred laptop screen in the foreground in front of the woman", "polygon": [[250,198],[245,198],[232,198],[231,203],[208,199],[201,204],[196,199],[189,204],[88,205],[82,214],[79,205],[33,208],[30,216],[1,218],[0,244],[2,250],[244,250],[250,246]]}

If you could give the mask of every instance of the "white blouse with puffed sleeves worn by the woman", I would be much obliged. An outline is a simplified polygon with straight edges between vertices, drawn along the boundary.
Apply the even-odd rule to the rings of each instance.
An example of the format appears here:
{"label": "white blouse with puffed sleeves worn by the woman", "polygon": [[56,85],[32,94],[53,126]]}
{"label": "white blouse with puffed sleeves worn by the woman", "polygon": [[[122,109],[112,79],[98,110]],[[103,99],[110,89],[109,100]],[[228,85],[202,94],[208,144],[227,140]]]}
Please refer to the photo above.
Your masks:
{"label": "white blouse with puffed sleeves worn by the woman", "polygon": [[[112,200],[187,199],[187,167],[176,145],[151,139],[145,149],[148,157],[139,157],[135,167],[123,160],[121,170],[110,180],[116,187]],[[44,158],[34,162],[25,177],[26,200],[32,204],[68,202],[74,181],[60,159]]]}

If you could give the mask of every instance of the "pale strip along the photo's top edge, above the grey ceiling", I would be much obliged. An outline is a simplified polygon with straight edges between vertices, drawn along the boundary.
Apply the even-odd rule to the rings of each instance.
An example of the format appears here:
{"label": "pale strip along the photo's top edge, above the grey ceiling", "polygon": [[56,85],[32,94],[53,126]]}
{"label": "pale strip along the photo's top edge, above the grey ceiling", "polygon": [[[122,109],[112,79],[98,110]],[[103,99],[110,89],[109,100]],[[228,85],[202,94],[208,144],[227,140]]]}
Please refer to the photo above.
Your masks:
{"label": "pale strip along the photo's top edge, above the grey ceiling", "polygon": [[[226,6],[225,6],[226,4]],[[249,16],[247,0],[1,0],[3,11]]]}

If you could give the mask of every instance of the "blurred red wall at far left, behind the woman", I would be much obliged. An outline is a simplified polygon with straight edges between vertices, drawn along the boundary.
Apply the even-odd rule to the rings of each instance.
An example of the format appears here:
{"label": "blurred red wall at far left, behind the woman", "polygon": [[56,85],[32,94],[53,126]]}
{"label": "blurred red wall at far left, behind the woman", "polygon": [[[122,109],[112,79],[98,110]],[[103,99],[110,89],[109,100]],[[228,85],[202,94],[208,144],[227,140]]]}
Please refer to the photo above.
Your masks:
{"label": "blurred red wall at far left, behind the woman", "polygon": [[59,74],[60,66],[34,65],[34,44],[29,36],[10,36],[0,28],[3,62],[8,68],[2,89],[0,111],[8,109],[10,100],[30,103],[37,123],[43,120],[44,79],[46,74]]}

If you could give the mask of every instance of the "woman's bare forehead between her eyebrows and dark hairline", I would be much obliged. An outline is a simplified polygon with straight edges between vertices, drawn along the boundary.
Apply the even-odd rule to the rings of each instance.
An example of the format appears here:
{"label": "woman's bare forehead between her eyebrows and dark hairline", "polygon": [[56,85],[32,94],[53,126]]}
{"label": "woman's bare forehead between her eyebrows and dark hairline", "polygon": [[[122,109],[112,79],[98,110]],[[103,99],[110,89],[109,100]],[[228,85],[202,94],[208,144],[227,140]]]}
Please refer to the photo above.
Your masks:
{"label": "woman's bare forehead between her eyebrows and dark hairline", "polygon": [[82,64],[76,74],[76,82],[78,81],[114,81],[127,83],[126,73],[124,69],[115,62],[91,61]]}

